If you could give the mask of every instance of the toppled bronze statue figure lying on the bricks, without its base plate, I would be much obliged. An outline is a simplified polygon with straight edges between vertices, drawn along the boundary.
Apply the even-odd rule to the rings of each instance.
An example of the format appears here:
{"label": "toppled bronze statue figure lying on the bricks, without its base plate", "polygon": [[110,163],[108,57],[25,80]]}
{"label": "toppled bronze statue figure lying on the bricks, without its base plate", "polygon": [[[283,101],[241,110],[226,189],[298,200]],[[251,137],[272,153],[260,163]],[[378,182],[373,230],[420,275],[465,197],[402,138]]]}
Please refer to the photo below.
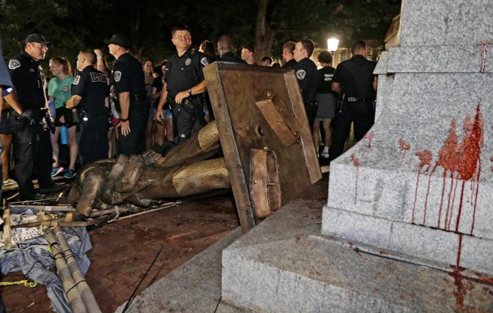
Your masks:
{"label": "toppled bronze statue figure lying on the bricks, without its base plate", "polygon": [[123,203],[147,207],[153,199],[231,188],[224,158],[212,158],[219,152],[218,129],[212,122],[164,156],[147,151],[88,164],[79,170],[77,184],[68,196],[69,203],[77,203],[69,218],[81,220],[92,210],[108,210]]}

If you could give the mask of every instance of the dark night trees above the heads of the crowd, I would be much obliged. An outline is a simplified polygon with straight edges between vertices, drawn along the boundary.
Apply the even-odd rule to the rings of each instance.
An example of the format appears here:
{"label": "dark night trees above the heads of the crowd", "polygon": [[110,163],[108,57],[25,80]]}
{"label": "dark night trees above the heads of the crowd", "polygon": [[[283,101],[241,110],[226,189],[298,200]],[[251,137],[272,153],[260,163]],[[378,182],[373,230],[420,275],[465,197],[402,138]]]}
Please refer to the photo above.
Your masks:
{"label": "dark night trees above the heads of the crowd", "polygon": [[283,42],[312,38],[325,47],[329,36],[342,44],[355,39],[383,42],[401,0],[0,0],[0,34],[5,58],[23,48],[27,34],[53,42],[49,58],[75,60],[81,49],[102,49],[114,33],[131,38],[141,59],[160,62],[174,51],[171,29],[186,23],[194,45],[223,34],[236,45],[254,44],[257,58],[280,57]]}

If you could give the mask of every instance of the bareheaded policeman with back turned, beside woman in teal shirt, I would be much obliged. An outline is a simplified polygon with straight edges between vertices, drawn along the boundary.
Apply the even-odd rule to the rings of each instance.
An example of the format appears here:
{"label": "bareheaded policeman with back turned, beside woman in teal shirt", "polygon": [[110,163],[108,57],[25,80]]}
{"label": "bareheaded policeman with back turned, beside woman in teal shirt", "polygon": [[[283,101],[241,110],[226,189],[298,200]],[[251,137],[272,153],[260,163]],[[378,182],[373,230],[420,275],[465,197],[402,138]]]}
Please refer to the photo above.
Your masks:
{"label": "bareheaded policeman with back turned, beside woman in teal shirt", "polygon": [[92,50],[79,52],[79,73],[72,84],[72,97],[66,103],[67,108],[77,105],[80,110],[79,153],[82,165],[108,158],[110,87],[103,72],[94,68],[96,60],[96,53]]}

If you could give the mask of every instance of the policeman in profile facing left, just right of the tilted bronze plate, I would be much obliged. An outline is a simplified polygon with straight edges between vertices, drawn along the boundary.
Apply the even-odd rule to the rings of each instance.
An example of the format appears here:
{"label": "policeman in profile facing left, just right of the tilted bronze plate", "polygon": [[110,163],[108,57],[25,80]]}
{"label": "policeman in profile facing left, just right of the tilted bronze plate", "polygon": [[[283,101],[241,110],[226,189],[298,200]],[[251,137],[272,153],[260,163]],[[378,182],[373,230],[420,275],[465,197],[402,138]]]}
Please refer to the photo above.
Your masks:
{"label": "policeman in profile facing left, just right of the tilted bronze plate", "polygon": [[305,104],[305,111],[310,129],[312,129],[317,110],[317,68],[315,62],[309,59],[313,51],[314,44],[312,40],[301,40],[296,42],[293,51],[294,60],[296,60],[293,69],[301,89],[301,97],[303,97],[303,103]]}

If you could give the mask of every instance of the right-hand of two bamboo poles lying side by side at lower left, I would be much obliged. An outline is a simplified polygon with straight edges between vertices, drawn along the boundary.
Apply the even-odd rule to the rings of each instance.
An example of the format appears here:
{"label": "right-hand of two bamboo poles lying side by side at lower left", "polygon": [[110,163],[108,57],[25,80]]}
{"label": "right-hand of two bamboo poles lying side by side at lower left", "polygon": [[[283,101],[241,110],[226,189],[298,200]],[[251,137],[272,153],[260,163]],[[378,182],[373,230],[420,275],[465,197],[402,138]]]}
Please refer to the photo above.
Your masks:
{"label": "right-hand of two bamboo poles lying side by side at lower left", "polygon": [[84,275],[80,271],[77,260],[75,260],[75,256],[73,255],[72,250],[68,245],[68,242],[66,241],[62,229],[60,227],[55,227],[53,228],[53,231],[55,233],[55,238],[58,240],[58,242],[60,242],[60,245],[62,246],[68,269],[72,273],[72,277],[75,280],[77,289],[81,294],[82,302],[84,302],[86,310],[90,313],[101,313],[99,305],[97,304],[97,301],[94,298],[94,295],[92,294],[92,291],[90,290],[90,287],[86,279],[84,278]]}

